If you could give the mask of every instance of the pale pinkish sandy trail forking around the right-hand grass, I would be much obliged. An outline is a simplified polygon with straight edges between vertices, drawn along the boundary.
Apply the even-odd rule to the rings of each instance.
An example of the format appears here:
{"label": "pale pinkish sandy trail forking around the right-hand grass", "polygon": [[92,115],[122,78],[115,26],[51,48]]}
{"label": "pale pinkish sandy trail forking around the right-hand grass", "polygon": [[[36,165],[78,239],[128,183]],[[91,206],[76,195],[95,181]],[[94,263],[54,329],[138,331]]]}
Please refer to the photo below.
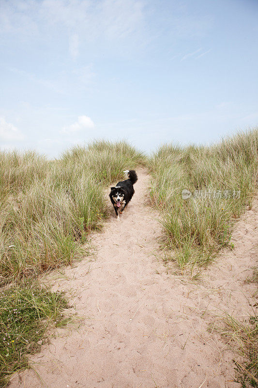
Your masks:
{"label": "pale pinkish sandy trail forking around the right-hand grass", "polygon": [[252,312],[255,285],[243,280],[257,257],[257,202],[236,227],[235,249],[222,252],[194,284],[157,260],[161,227],[157,213],[142,206],[150,177],[138,176],[121,221],[112,213],[104,232],[93,235],[94,261],[66,268],[53,287],[75,290],[71,304],[88,319],[77,330],[58,329],[30,358],[41,380],[27,370],[11,388],[240,387],[232,381],[234,355],[207,323],[214,313]]}

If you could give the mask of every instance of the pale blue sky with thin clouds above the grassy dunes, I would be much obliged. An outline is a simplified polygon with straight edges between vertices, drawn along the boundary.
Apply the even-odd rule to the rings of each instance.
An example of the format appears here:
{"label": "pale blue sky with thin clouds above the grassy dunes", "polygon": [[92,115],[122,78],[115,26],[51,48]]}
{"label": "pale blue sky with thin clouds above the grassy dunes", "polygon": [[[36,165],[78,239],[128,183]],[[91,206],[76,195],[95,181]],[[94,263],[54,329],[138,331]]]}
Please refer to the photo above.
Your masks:
{"label": "pale blue sky with thin clouds above the grassy dunes", "polygon": [[0,148],[210,144],[258,125],[257,0],[1,0]]}

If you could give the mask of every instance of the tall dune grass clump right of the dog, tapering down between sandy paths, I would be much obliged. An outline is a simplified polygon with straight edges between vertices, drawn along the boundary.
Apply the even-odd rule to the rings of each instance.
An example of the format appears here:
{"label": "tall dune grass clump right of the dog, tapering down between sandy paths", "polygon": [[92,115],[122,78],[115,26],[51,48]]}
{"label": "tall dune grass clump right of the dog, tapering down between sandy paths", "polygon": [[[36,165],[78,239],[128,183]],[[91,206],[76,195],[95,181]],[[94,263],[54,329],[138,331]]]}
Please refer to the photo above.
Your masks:
{"label": "tall dune grass clump right of the dog, tapering down between sandy paths", "polygon": [[[171,259],[182,272],[206,265],[231,244],[234,221],[257,193],[258,129],[211,147],[161,146],[149,169],[151,200],[160,210]],[[184,189],[189,199],[182,199]]]}

